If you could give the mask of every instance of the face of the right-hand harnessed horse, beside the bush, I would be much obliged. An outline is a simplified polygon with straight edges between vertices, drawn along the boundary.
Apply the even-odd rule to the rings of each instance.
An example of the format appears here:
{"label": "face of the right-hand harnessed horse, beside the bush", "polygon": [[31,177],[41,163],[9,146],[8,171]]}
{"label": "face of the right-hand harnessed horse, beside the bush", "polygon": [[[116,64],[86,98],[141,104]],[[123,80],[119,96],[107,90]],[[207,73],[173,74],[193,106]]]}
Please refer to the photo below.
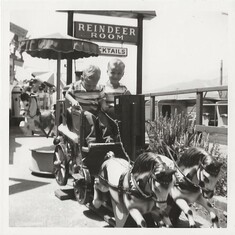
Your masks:
{"label": "face of the right-hand harnessed horse, beside the bush", "polygon": [[221,166],[222,163],[209,154],[206,154],[200,161],[197,177],[204,198],[213,197]]}

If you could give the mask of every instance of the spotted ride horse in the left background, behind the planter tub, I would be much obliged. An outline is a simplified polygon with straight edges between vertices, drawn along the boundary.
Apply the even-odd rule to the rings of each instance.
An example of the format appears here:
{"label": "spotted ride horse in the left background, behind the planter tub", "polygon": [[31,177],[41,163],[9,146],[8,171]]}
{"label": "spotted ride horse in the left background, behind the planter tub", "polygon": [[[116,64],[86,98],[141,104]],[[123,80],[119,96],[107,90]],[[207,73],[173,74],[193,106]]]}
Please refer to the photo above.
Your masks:
{"label": "spotted ride horse in the left background, behind the planter tub", "polygon": [[[25,117],[25,121],[20,126],[31,134],[40,129],[46,137],[54,133],[55,115],[51,110],[40,110],[38,108],[37,97],[22,93],[20,114]],[[55,134],[55,133],[54,133]]]}

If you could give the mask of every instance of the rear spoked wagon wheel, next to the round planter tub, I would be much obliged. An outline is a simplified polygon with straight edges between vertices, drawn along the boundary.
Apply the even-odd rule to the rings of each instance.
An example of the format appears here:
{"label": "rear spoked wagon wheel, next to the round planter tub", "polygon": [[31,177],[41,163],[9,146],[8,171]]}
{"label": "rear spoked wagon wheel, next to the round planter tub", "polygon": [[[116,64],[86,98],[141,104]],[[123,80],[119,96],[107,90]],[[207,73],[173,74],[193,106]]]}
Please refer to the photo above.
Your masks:
{"label": "rear spoked wagon wheel, next to the round planter tub", "polygon": [[56,182],[61,186],[66,185],[69,178],[68,164],[65,151],[60,145],[55,148],[53,163]]}

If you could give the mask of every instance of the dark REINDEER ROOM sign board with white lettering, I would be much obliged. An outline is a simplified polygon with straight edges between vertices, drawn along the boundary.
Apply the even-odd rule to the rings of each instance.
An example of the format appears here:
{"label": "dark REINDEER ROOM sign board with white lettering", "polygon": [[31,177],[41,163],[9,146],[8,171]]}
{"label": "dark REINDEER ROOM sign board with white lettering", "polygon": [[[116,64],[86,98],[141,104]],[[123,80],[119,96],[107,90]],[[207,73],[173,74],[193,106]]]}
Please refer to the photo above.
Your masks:
{"label": "dark REINDEER ROOM sign board with white lettering", "polygon": [[88,22],[74,22],[74,37],[106,42],[137,44],[138,28]]}

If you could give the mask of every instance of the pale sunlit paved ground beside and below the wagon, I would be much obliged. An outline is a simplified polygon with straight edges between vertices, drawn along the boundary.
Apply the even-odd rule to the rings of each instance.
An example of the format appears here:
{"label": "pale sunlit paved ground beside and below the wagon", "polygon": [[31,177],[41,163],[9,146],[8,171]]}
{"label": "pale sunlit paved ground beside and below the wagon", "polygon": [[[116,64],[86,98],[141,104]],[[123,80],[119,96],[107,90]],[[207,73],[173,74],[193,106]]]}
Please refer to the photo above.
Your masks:
{"label": "pale sunlit paved ground beside and below the wagon", "polygon": [[[10,131],[9,156],[9,227],[110,227],[86,206],[76,200],[61,201],[55,190],[72,188],[72,182],[61,188],[53,177],[33,175],[30,171],[30,148],[52,144],[45,137],[22,137],[18,129]],[[196,216],[199,227],[209,227],[208,221]],[[187,227],[181,217],[182,227]]]}

